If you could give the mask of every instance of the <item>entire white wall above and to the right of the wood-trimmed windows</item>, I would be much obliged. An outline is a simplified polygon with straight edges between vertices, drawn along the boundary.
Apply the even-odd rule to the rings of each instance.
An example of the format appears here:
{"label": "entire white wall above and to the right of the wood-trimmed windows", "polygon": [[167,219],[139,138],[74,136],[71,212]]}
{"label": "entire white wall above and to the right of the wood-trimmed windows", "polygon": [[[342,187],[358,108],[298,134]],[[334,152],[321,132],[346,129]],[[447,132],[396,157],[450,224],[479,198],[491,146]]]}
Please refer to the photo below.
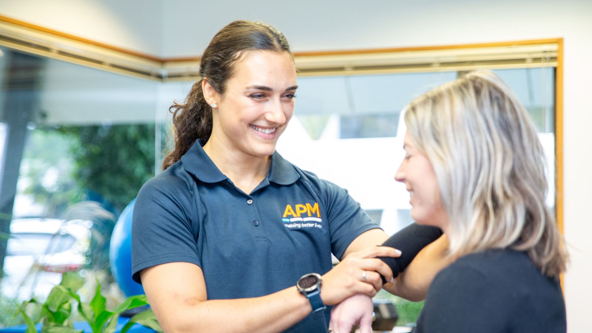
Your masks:
{"label": "entire white wall above and to the right of the wood-trimmed windows", "polygon": [[294,51],[563,37],[564,225],[571,252],[565,297],[569,331],[592,331],[592,1],[168,0],[150,7],[140,0],[4,0],[0,14],[166,57],[200,54],[215,31],[237,18],[276,25]]}

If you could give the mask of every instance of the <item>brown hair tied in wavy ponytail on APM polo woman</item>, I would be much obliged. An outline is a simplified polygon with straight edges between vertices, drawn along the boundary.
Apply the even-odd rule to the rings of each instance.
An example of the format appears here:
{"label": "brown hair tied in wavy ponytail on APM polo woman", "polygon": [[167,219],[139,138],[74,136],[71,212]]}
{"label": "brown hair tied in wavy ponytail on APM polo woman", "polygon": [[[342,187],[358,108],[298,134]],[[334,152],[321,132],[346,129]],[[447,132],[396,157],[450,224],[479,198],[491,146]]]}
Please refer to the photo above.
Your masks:
{"label": "brown hair tied in wavy ponytail on APM polo woman", "polygon": [[219,94],[224,94],[237,60],[244,52],[255,50],[292,54],[284,35],[262,22],[234,21],[215,34],[200,60],[201,79],[191,87],[184,104],[175,102],[169,108],[175,126],[175,149],[163,160],[163,170],[179,161],[195,140],[205,143],[210,139],[212,109],[205,102],[202,80],[207,79]]}

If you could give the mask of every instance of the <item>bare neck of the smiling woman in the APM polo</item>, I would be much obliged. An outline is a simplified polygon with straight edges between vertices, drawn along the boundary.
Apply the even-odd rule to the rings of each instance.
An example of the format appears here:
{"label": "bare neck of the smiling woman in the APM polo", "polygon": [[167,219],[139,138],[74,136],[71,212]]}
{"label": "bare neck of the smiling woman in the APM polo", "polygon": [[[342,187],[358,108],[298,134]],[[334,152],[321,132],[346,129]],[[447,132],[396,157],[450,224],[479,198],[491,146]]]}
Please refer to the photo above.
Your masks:
{"label": "bare neck of the smiling woman in the APM polo", "polygon": [[253,156],[215,139],[205,143],[204,152],[236,187],[247,194],[265,179],[271,166],[271,156]]}

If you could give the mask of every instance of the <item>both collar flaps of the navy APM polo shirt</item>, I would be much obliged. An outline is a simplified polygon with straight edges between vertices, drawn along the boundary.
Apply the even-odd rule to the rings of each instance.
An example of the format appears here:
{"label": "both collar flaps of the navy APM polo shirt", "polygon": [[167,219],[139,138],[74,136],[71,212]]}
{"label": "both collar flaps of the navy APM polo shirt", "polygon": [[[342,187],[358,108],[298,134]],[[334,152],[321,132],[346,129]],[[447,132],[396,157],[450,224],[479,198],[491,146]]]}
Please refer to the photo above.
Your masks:
{"label": "both collar flaps of the navy APM polo shirt", "polygon": [[[214,162],[210,159],[204,151],[205,143],[200,139],[196,140],[194,145],[181,156],[181,163],[185,170],[197,177],[203,182],[220,182],[227,180],[228,177],[224,175]],[[300,178],[294,166],[285,160],[276,151],[271,155],[271,167],[269,167],[268,180],[279,185],[293,184]]]}

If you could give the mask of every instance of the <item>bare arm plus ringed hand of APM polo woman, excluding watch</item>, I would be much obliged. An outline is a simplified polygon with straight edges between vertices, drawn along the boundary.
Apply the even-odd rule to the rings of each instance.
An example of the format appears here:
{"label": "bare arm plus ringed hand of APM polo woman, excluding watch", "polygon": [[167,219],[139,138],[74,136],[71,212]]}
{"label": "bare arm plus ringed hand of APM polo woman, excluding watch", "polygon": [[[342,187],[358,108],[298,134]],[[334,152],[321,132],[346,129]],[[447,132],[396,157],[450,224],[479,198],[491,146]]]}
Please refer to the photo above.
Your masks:
{"label": "bare arm plus ringed hand of APM polo woman, excluding watch", "polygon": [[[388,247],[350,255],[324,274],[320,293],[323,303],[334,305],[357,293],[374,296],[382,287],[377,272],[391,276],[390,268],[376,257],[393,255],[398,254]],[[361,281],[364,270],[366,280],[374,284]],[[312,311],[307,297],[295,286],[262,297],[207,300],[204,274],[200,266],[189,262],[146,268],[140,277],[165,332],[281,332]]]}

